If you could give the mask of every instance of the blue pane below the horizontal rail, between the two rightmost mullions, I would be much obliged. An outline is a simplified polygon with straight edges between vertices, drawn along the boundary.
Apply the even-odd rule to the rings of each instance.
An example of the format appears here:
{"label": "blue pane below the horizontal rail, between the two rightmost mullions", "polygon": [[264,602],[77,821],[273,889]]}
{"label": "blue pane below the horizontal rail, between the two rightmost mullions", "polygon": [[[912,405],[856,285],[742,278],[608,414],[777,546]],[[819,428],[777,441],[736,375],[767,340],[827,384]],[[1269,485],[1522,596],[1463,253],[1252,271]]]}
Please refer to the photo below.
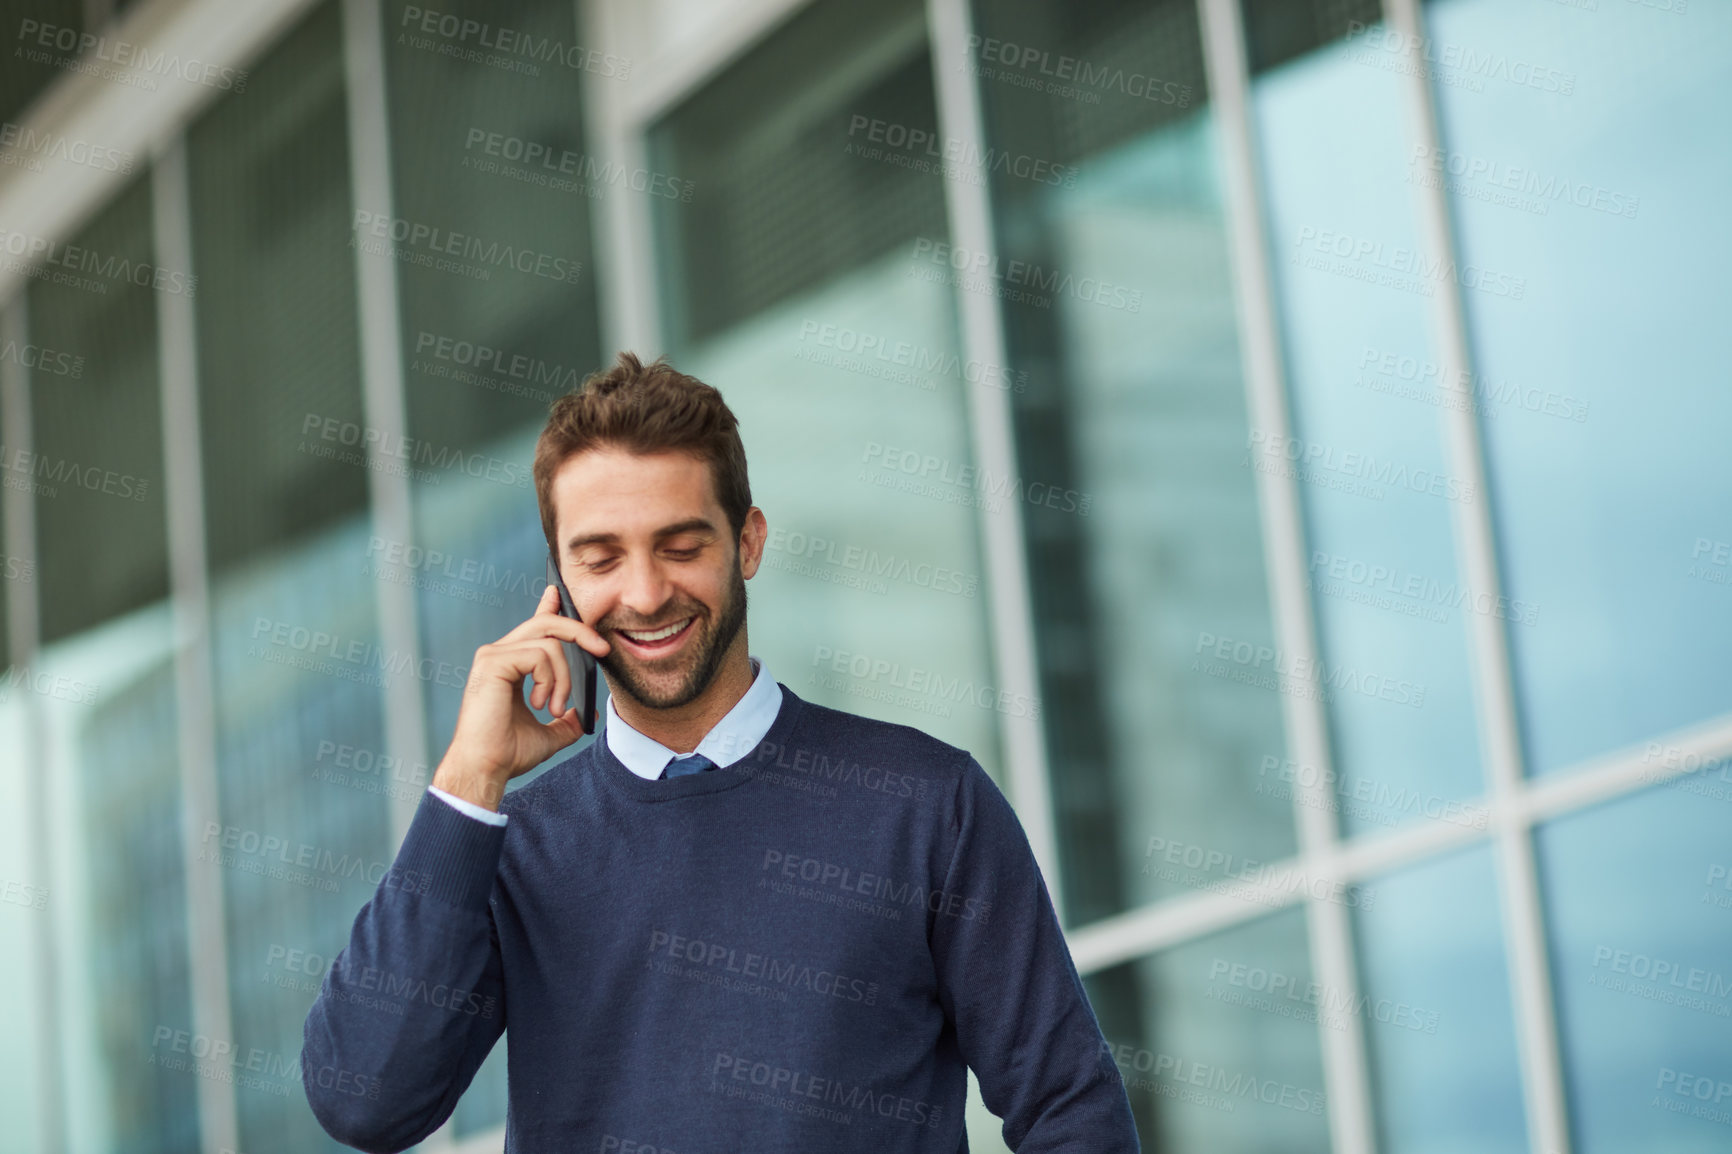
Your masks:
{"label": "blue pane below the horizontal rail, between the two rightmost mullions", "polygon": [[1354,920],[1379,1149],[1526,1151],[1491,847],[1377,878],[1368,892],[1377,899]]}

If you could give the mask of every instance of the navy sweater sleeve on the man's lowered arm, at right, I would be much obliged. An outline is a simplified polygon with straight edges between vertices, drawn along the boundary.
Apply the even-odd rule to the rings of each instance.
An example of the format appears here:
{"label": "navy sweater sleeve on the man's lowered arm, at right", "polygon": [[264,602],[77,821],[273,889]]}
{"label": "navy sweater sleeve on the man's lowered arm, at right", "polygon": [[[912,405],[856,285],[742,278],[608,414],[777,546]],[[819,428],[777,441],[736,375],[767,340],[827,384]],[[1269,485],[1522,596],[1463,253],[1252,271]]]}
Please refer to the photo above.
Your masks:
{"label": "navy sweater sleeve on the man's lowered arm, at right", "polygon": [[973,757],[932,901],[939,998],[1018,1154],[1138,1154],[1124,1079],[1070,962],[1015,811]]}

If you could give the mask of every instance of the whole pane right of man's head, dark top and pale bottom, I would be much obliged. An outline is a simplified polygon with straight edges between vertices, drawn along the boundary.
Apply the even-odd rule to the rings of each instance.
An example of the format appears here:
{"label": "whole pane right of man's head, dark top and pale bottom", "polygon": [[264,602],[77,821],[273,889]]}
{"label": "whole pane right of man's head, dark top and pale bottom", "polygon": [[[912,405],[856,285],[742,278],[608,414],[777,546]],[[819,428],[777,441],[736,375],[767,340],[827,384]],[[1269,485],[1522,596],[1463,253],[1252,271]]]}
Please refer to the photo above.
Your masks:
{"label": "whole pane right of man's head, dark top and pale bottom", "polygon": [[651,154],[696,192],[658,203],[665,324],[740,416],[769,520],[752,650],[800,697],[996,773],[998,710],[1039,703],[992,686],[968,426],[992,383],[949,289],[909,276],[944,243],[944,187],[869,144],[889,125],[934,133],[918,3],[805,9],[675,109]]}

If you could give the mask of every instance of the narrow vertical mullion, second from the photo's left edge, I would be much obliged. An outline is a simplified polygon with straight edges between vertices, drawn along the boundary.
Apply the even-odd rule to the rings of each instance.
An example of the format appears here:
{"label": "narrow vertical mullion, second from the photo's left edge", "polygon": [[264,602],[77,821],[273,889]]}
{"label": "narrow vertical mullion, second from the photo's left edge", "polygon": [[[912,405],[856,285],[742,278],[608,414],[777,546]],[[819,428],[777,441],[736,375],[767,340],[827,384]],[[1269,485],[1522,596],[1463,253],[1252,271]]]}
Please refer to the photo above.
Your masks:
{"label": "narrow vertical mullion, second from the photo's left edge", "polygon": [[[185,139],[151,168],[156,258],[194,269]],[[173,617],[175,721],[180,747],[182,863],[187,887],[187,976],[192,1029],[232,1040],[227,896],[222,870],[199,859],[199,830],[222,823],[216,697],[211,672],[211,594],[204,546],[204,452],[199,440],[197,315],[191,296],[159,293],[158,373],[163,409],[163,499],[168,515],[168,589]],[[239,1149],[234,1086],[197,1079],[199,1142],[206,1154]]]}

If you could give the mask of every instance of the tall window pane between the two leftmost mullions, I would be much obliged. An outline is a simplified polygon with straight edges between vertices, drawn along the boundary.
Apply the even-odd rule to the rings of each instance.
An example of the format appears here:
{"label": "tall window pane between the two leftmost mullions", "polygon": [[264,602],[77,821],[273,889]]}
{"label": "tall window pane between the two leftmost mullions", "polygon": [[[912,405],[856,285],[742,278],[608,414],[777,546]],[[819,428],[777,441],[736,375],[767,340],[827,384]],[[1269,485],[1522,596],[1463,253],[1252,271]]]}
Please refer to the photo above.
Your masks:
{"label": "tall window pane between the two leftmost mullions", "polygon": [[[52,922],[47,956],[59,962],[35,986],[54,991],[54,1040],[31,1048],[59,1059],[52,1125],[64,1142],[166,1154],[197,1138],[197,1081],[149,1060],[159,1028],[191,1024],[156,340],[158,295],[182,291],[185,270],[154,276],[145,180],[68,244],[80,272],[24,295],[33,459],[21,471],[36,537],[26,591],[43,648],[29,681],[0,688],[35,710],[35,754],[21,764],[29,792],[47,795],[45,828],[17,837],[47,854],[17,877],[45,885],[36,929]],[[35,806],[21,818],[35,821]],[[50,1145],[45,1133],[40,1149]]]}

